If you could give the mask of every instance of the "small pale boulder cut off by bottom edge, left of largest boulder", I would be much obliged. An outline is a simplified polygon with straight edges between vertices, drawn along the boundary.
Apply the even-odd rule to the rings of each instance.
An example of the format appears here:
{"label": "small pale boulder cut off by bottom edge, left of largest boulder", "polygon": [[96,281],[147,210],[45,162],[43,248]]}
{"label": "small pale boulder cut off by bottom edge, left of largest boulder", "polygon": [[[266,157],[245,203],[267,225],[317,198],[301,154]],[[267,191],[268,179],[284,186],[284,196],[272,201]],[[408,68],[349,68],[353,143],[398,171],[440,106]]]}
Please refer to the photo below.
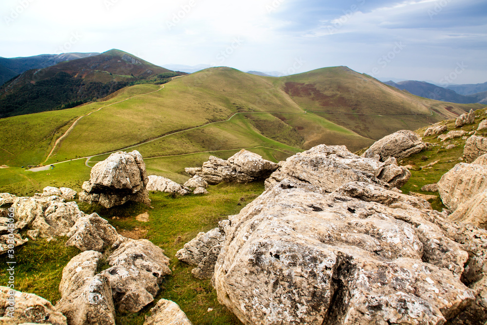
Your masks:
{"label": "small pale boulder cut off by bottom edge, left of largest boulder", "polygon": [[192,325],[179,306],[170,300],[161,299],[150,309],[144,325]]}

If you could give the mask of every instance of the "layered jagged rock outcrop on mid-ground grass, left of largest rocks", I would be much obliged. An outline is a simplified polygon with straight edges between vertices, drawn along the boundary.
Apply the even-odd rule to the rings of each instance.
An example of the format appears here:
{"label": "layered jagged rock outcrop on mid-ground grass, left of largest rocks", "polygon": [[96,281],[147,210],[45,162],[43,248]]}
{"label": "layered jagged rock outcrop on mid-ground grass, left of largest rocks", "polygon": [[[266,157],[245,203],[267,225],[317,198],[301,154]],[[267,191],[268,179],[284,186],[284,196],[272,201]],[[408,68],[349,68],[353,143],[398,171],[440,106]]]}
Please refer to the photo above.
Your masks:
{"label": "layered jagged rock outcrop on mid-ground grass, left of largest rocks", "polygon": [[216,185],[221,182],[248,183],[264,179],[277,168],[276,163],[242,149],[228,160],[210,156],[202,168],[186,168],[185,171],[190,176],[198,175],[208,184]]}

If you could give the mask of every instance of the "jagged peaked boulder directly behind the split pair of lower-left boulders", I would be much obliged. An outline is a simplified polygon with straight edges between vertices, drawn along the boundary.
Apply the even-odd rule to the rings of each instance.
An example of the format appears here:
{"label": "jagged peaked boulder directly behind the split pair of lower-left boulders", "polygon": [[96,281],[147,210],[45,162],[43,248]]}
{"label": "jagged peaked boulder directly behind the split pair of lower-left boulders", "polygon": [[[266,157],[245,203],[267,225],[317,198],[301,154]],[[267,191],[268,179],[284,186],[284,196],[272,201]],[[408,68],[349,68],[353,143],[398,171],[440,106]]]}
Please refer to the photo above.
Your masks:
{"label": "jagged peaked boulder directly behind the split pair of lower-left boulders", "polygon": [[66,246],[74,246],[81,251],[103,252],[121,237],[115,228],[97,213],[79,218],[68,232]]}

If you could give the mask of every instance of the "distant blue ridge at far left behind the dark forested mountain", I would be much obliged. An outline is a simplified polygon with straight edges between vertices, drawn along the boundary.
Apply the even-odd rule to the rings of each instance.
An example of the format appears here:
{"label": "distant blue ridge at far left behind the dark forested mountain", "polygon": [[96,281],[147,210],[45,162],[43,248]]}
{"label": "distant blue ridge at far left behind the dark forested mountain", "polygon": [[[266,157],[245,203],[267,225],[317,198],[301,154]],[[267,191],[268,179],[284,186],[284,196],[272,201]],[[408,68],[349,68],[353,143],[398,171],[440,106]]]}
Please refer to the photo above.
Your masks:
{"label": "distant blue ridge at far left behind the dark forested mountain", "polygon": [[31,69],[47,68],[59,62],[91,57],[99,53],[42,54],[34,57],[0,57],[0,86]]}

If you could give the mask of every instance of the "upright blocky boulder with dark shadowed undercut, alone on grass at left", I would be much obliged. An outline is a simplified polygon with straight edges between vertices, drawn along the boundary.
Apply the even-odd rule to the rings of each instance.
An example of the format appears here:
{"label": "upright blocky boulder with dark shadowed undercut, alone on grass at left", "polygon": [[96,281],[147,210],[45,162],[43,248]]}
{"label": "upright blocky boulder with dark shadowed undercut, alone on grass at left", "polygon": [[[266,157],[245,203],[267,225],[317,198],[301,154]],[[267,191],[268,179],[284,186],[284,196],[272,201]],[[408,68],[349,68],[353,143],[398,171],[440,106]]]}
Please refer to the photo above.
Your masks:
{"label": "upright blocky boulder with dark shadowed undercut, alone on grass at left", "polygon": [[90,204],[99,203],[105,208],[128,201],[149,205],[148,182],[146,165],[138,151],[112,153],[94,165],[79,199]]}

